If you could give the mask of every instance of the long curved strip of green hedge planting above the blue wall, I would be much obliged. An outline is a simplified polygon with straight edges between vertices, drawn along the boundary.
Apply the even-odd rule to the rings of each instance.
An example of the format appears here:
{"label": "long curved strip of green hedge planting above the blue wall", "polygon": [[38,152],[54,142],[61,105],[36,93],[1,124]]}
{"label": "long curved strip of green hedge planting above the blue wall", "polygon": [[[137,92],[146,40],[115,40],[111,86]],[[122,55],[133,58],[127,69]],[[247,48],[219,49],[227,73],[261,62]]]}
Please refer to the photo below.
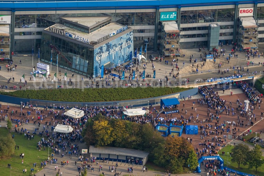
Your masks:
{"label": "long curved strip of green hedge planting above the blue wall", "polygon": [[96,88],[96,89],[55,89],[55,90],[17,90],[14,92],[0,92],[3,95],[18,98],[67,101],[67,102],[95,102],[120,101],[150,98],[173,94],[188,90],[182,87],[146,87],[146,88]]}

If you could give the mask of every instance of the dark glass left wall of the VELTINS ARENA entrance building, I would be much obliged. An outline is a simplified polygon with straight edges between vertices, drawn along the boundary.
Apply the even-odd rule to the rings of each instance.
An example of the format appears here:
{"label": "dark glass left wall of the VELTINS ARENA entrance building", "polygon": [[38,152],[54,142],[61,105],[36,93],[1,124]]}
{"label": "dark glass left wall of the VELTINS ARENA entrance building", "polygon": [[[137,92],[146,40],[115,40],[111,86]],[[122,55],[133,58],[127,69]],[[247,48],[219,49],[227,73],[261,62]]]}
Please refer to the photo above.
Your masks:
{"label": "dark glass left wall of the VELTINS ARENA entrance building", "polygon": [[58,54],[59,67],[85,76],[93,75],[93,49],[43,33],[40,52],[40,58],[46,63],[50,63],[52,53],[52,63],[55,65]]}

